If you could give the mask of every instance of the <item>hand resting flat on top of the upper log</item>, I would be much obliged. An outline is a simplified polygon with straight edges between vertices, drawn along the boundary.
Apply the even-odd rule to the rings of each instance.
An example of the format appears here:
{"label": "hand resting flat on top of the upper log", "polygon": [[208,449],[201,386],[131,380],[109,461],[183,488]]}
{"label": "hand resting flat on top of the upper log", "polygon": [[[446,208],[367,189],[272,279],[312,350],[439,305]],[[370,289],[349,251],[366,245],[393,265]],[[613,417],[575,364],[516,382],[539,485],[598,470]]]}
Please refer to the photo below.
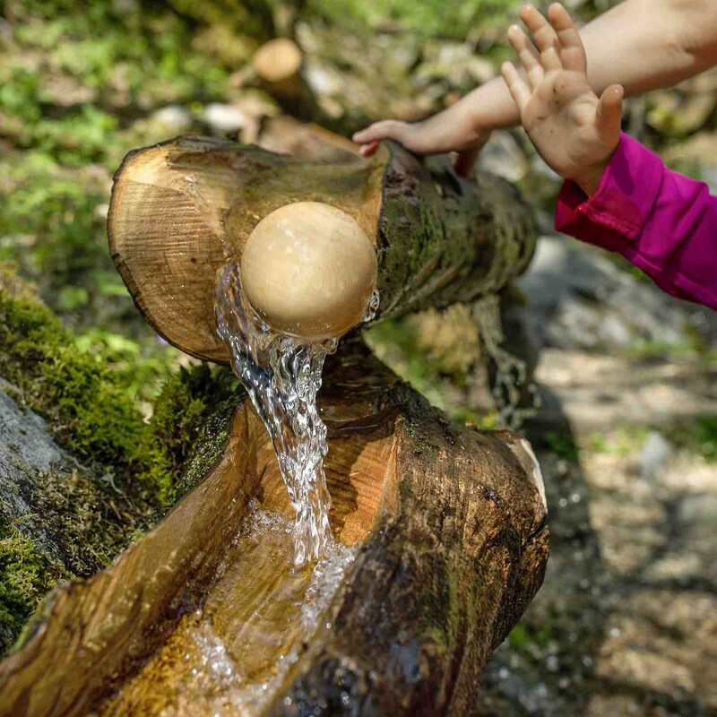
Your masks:
{"label": "hand resting flat on top of the upper log", "polygon": [[400,122],[384,119],[353,135],[353,141],[361,143],[360,152],[364,157],[376,153],[384,140],[402,144],[414,154],[437,154],[457,151],[455,170],[463,177],[471,174],[473,164],[483,145],[488,142],[490,132],[477,132],[472,127],[460,132],[456,123],[441,112],[423,122]]}

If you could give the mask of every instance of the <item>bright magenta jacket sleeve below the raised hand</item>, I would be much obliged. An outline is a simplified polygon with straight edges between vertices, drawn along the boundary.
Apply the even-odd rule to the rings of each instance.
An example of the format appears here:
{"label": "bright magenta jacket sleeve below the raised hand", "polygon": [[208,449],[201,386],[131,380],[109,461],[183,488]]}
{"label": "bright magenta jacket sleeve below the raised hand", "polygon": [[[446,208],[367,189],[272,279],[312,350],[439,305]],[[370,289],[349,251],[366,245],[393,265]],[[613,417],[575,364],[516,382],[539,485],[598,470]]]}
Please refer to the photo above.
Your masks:
{"label": "bright magenta jacket sleeve below the raised hand", "polygon": [[625,256],[669,294],[717,309],[717,196],[626,134],[595,194],[566,181],[555,228]]}

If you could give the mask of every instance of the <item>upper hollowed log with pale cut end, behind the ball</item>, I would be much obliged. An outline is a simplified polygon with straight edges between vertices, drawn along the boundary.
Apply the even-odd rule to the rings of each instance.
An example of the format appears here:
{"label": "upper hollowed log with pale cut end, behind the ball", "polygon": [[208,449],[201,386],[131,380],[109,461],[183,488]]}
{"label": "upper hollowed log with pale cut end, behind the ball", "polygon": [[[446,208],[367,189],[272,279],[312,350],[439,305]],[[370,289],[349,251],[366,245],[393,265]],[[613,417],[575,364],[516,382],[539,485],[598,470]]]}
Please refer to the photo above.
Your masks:
{"label": "upper hollowed log with pale cut end, behind the ball", "polygon": [[111,254],[150,324],[178,348],[229,362],[216,334],[215,274],[287,203],[333,204],[366,231],[383,317],[495,293],[527,265],[531,213],[505,181],[457,177],[448,157],[418,160],[395,144],[363,160],[325,132],[303,133],[292,156],[180,137],[131,152],[117,171]]}

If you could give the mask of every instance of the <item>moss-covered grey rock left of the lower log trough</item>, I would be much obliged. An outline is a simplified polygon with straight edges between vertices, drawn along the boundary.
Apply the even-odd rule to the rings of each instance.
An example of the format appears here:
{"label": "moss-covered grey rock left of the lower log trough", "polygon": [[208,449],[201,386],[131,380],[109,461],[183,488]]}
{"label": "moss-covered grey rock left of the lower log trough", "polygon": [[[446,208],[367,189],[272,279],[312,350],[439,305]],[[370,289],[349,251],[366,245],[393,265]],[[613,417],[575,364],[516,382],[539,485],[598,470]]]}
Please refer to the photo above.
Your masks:
{"label": "moss-covered grey rock left of the lower log trough", "polygon": [[226,437],[229,369],[178,367],[145,419],[114,358],[80,350],[0,267],[0,653],[58,580],[108,565],[193,488]]}

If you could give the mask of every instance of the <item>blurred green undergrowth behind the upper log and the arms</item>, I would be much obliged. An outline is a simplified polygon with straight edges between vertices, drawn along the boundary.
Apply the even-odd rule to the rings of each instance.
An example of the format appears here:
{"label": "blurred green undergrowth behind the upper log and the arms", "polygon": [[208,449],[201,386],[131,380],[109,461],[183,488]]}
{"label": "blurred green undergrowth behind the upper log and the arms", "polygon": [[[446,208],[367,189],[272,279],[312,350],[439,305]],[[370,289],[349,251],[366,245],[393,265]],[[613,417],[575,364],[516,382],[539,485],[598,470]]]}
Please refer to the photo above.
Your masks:
{"label": "blurred green undergrowth behind the upper log and the arms", "polygon": [[[609,3],[573,5],[588,20]],[[242,81],[255,49],[277,34],[298,40],[309,85],[334,129],[348,134],[380,117],[425,117],[496,73],[517,6],[514,0],[5,0],[0,261],[17,264],[77,333],[82,350],[131,365],[128,390],[146,400],[180,357],[158,345],[108,255],[111,177],[125,153],[190,131],[242,138],[252,102],[260,109],[249,110],[251,119],[278,111],[271,97]],[[679,168],[713,176],[704,162],[715,143],[713,85],[635,100],[626,123]],[[497,163],[549,211],[557,182],[546,177],[530,144],[516,132],[502,149],[497,160],[487,152],[488,168]],[[413,324],[396,334],[409,352],[420,343]],[[420,360],[417,354],[412,361],[418,377],[440,373],[442,367],[418,366]]]}

